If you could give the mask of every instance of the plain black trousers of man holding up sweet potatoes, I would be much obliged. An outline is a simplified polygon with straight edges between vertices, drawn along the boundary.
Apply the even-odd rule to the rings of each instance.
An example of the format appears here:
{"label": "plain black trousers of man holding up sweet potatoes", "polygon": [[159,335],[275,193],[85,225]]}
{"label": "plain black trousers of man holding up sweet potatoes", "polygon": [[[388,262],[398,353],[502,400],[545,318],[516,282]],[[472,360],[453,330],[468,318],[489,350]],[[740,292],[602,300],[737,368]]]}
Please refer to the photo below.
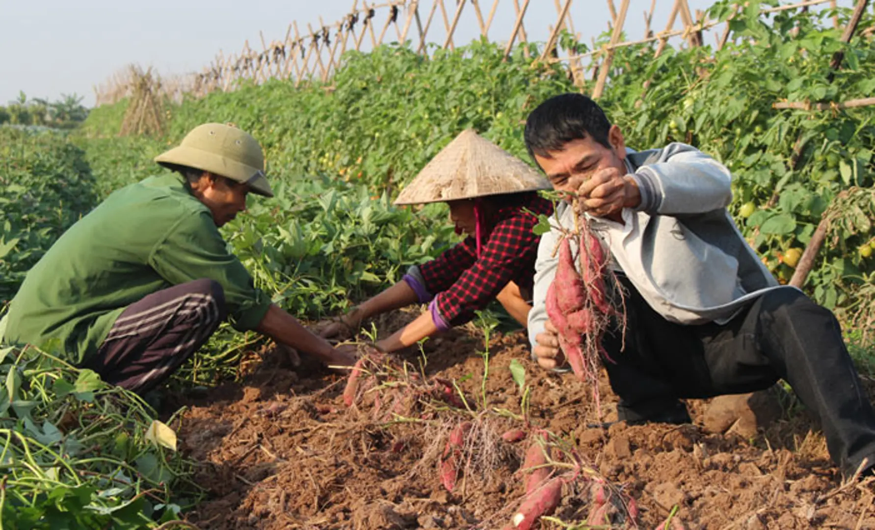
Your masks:
{"label": "plain black trousers of man holding up sweet potatoes", "polygon": [[860,385],[830,310],[795,289],[760,296],[724,325],[669,322],[631,282],[626,349],[606,335],[611,387],[627,415],[654,417],[678,399],[762,390],[783,379],[820,420],[830,456],[845,475],[875,464],[875,411]]}

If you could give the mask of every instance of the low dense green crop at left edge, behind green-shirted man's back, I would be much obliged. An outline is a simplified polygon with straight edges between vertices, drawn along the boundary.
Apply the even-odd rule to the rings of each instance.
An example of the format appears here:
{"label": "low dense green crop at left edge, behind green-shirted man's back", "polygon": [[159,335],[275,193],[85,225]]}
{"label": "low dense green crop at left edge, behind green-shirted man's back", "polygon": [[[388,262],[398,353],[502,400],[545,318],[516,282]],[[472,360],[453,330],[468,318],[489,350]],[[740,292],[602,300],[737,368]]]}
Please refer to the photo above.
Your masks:
{"label": "low dense green crop at left edge, behind green-shirted man's back", "polygon": [[83,151],[62,134],[0,128],[0,303],[97,204],[93,186]]}

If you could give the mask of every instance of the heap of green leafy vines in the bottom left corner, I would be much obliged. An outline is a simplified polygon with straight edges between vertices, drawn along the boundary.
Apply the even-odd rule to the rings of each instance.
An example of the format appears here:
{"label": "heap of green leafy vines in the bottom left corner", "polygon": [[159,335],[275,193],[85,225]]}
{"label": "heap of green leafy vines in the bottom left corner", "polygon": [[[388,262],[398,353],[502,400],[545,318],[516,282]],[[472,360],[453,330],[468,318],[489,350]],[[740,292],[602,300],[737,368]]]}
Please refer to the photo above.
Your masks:
{"label": "heap of green leafy vines in the bottom left corner", "polygon": [[[0,525],[142,528],[175,520],[192,465],[151,443],[151,409],[33,349],[0,350]],[[187,486],[186,486],[187,485]]]}

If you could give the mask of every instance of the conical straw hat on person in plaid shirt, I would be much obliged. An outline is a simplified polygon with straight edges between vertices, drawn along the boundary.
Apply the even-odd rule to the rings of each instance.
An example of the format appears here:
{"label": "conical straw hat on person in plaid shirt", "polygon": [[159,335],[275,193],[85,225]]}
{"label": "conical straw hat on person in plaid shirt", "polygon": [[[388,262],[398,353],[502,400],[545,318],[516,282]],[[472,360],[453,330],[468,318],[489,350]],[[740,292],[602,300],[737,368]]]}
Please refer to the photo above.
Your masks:
{"label": "conical straw hat on person in plaid shirt", "polygon": [[533,167],[467,129],[419,171],[395,204],[473,199],[551,187]]}

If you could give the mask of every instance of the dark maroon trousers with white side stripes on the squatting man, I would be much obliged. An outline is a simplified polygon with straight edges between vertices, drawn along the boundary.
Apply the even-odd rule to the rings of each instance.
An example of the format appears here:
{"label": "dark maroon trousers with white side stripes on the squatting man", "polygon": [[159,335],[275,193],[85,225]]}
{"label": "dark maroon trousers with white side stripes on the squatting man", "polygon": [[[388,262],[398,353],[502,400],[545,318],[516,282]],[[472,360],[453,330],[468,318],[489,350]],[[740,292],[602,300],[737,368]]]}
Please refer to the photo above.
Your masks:
{"label": "dark maroon trousers with white side stripes on the squatting man", "polygon": [[225,319],[218,282],[195,280],[145,296],[118,317],[86,368],[137,394],[158,387]]}

